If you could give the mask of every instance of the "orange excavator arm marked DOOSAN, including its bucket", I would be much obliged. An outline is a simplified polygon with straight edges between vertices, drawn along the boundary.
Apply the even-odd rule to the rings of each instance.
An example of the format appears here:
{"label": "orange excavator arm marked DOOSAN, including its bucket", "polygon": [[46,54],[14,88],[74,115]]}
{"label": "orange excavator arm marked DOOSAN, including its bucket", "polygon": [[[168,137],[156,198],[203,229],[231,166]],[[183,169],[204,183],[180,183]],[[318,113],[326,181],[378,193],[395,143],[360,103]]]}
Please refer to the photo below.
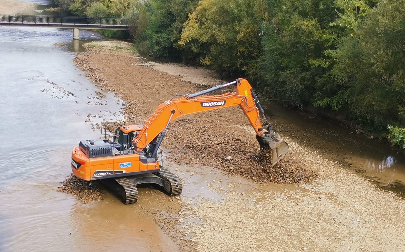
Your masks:
{"label": "orange excavator arm marked DOOSAN, including its bucket", "polygon": [[[232,84],[236,84],[235,93],[228,92],[222,95],[202,96]],[[132,141],[132,146],[136,146],[134,151],[142,152],[148,144],[154,141],[156,142],[156,146],[153,147],[150,155],[151,157],[155,157],[171,121],[187,114],[237,105],[241,107],[249,123],[256,131],[256,138],[260,144],[260,149],[270,148],[272,150],[272,164],[274,165],[287,153],[288,144],[280,138],[277,138],[273,133],[273,129],[264,116],[264,111],[252,86],[250,86],[249,82],[245,79],[238,79],[234,82],[214,86],[198,93],[182,95],[178,99],[171,99],[160,104]],[[260,121],[260,114],[262,114],[265,120],[263,125]]]}

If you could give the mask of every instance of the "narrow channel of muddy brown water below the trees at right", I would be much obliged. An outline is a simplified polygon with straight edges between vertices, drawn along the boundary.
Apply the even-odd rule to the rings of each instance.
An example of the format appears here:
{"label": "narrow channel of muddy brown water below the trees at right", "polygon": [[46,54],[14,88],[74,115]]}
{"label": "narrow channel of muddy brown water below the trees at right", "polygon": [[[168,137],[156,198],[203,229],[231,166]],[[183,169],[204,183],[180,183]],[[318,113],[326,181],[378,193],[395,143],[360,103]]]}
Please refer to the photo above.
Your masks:
{"label": "narrow channel of muddy brown water below the trees at right", "polygon": [[382,189],[405,196],[403,152],[328,119],[292,111],[277,103],[266,106],[266,114],[280,133],[337,160],[355,170],[360,177],[379,184]]}

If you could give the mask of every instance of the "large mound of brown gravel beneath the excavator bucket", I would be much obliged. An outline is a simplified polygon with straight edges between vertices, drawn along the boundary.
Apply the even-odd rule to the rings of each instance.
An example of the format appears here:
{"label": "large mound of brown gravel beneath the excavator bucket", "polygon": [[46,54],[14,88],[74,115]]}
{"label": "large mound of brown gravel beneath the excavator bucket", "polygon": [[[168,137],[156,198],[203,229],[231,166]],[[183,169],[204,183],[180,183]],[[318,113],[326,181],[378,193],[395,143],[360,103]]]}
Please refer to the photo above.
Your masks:
{"label": "large mound of brown gravel beneath the excavator bucket", "polygon": [[[214,118],[215,115],[210,116]],[[183,165],[205,165],[223,170],[231,175],[241,175],[260,182],[297,183],[317,177],[303,162],[289,153],[275,166],[271,166],[271,151],[260,152],[256,135],[237,129],[233,125],[185,118],[174,122],[168,129],[164,146],[177,146],[177,153],[169,159]]]}

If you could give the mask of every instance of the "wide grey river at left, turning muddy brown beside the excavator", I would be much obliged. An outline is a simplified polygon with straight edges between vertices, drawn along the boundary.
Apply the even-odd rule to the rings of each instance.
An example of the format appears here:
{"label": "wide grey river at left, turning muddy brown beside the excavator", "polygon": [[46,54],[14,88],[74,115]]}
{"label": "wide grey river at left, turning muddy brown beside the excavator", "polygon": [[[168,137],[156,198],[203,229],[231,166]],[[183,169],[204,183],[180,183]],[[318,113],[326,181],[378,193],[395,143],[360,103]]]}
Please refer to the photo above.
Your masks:
{"label": "wide grey river at left, turning muddy brown beside the excavator", "polygon": [[[99,39],[81,31],[81,42]],[[84,122],[87,114],[122,119],[122,101],[73,64],[81,44],[54,45],[65,41],[72,41],[71,30],[0,27],[0,251],[176,248],[156,223],[111,194],[83,204],[56,192],[71,172],[72,147],[100,137]]]}

